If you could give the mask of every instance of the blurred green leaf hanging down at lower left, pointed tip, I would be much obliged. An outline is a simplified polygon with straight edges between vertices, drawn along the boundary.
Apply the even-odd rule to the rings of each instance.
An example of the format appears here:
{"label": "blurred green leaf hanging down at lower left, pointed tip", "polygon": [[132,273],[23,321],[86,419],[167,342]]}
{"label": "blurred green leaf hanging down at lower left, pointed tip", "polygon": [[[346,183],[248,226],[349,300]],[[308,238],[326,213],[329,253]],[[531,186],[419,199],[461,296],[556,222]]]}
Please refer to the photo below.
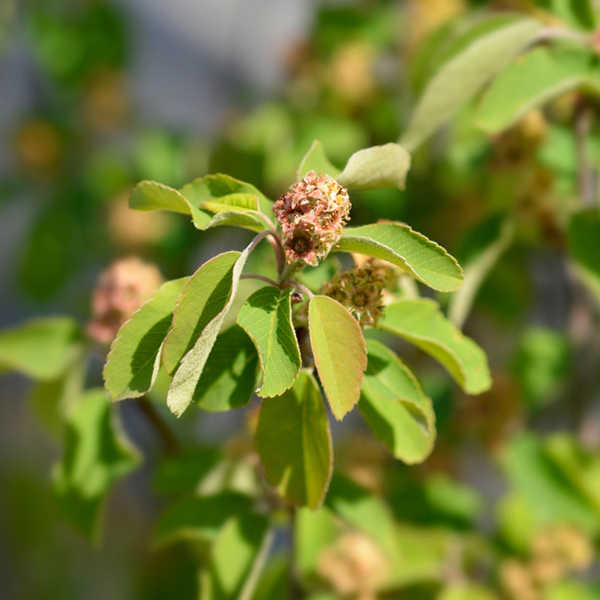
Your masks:
{"label": "blurred green leaf hanging down at lower left, pointed tip", "polygon": [[61,514],[91,540],[110,488],[140,463],[103,389],[89,390],[68,416],[64,456],[53,472]]}

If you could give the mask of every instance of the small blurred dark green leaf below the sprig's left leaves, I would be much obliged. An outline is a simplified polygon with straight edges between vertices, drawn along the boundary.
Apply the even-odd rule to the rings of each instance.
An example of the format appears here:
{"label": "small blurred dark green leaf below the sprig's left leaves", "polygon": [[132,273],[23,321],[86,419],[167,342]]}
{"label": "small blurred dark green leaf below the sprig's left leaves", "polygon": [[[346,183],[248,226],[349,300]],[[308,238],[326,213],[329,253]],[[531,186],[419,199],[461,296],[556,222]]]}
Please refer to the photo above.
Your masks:
{"label": "small blurred dark green leaf below the sprig's left leaves", "polygon": [[158,465],[154,489],[163,494],[191,492],[220,459],[220,452],[208,446],[166,457]]}

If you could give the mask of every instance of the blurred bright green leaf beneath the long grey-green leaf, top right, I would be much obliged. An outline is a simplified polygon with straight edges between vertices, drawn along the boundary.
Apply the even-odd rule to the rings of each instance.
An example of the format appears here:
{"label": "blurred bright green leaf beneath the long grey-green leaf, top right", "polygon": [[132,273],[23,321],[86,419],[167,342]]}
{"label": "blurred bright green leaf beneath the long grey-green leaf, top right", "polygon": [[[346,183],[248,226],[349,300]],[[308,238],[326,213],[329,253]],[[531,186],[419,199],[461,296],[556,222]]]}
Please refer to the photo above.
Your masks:
{"label": "blurred bright green leaf beneath the long grey-green leaf, top right", "polygon": [[537,48],[500,73],[483,96],[475,122],[487,133],[500,133],[533,108],[579,87],[600,92],[591,53]]}

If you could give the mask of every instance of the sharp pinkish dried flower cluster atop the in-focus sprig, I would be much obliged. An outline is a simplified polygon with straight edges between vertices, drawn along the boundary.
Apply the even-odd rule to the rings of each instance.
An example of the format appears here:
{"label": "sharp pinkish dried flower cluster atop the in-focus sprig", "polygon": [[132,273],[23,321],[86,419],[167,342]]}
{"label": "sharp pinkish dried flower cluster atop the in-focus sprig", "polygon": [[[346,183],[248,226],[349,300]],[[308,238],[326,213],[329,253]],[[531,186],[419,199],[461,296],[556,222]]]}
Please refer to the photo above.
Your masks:
{"label": "sharp pinkish dried flower cluster atop the in-focus sprig", "polygon": [[286,260],[316,267],[340,239],[349,220],[348,191],[328,175],[314,171],[290,190],[273,206]]}

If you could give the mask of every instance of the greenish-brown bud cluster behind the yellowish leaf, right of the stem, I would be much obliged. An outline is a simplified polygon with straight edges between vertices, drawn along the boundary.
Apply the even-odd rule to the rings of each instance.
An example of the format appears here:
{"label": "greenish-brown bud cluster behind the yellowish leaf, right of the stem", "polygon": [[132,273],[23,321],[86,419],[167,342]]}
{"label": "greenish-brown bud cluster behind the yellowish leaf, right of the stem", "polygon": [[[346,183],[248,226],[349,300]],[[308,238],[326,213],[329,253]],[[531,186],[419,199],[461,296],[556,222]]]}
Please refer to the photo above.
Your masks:
{"label": "greenish-brown bud cluster behind the yellowish leaf, right of the stem", "polygon": [[345,306],[361,324],[373,326],[383,311],[386,278],[370,262],[339,271],[323,284],[321,292]]}

